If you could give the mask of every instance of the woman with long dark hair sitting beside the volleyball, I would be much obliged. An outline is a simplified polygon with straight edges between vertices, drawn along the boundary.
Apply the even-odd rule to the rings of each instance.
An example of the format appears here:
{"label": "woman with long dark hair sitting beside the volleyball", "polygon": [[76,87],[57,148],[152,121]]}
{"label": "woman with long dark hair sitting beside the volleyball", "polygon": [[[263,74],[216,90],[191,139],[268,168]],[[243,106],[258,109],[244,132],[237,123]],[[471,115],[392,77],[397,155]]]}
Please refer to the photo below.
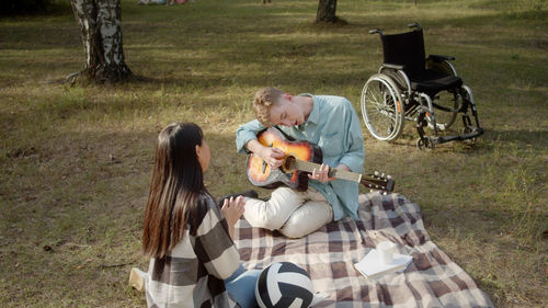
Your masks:
{"label": "woman with long dark hair sitting beside the volleyball", "polygon": [[[210,160],[202,129],[175,123],[162,129],[148,195],[142,277],[149,307],[255,307],[258,270],[246,272],[232,241],[242,196],[219,208],[204,185]],[[130,277],[132,281],[132,277]]]}

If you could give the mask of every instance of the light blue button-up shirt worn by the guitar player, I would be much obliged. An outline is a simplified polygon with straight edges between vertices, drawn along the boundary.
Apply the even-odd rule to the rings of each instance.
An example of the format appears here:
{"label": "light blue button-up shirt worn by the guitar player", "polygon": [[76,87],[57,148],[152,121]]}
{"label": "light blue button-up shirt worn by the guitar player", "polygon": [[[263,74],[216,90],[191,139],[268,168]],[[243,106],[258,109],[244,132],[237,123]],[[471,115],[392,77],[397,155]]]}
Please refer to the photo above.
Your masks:
{"label": "light blue button-up shirt worn by the guitar player", "polygon": [[[316,95],[308,119],[297,126],[278,126],[287,136],[296,140],[307,140],[318,145],[323,153],[323,163],[338,167],[343,163],[353,172],[364,170],[364,139],[356,111],[345,98]],[[244,147],[249,140],[266,127],[258,119],[240,126],[236,132],[238,152],[249,152]],[[357,218],[358,183],[333,180],[322,183],[308,180],[310,186],[323,194],[333,208],[333,219],[344,216]]]}

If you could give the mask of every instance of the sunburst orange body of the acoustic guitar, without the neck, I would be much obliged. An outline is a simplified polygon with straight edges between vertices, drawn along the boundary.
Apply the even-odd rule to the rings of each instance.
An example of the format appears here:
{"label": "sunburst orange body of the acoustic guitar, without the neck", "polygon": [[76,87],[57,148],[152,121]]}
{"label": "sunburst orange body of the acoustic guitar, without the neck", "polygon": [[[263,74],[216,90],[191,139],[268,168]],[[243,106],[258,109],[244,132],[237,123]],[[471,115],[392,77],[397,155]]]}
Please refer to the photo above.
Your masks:
{"label": "sunburst orange body of the acoustic guitar, without the neck", "polygon": [[[270,127],[256,135],[256,139],[265,147],[283,150],[286,156],[296,159],[321,163],[323,156],[320,147],[308,141],[293,140],[281,130]],[[284,172],[282,169],[272,170],[260,156],[250,153],[247,161],[248,180],[255,186],[275,189],[285,184],[298,191],[308,189],[308,172],[295,170]]]}

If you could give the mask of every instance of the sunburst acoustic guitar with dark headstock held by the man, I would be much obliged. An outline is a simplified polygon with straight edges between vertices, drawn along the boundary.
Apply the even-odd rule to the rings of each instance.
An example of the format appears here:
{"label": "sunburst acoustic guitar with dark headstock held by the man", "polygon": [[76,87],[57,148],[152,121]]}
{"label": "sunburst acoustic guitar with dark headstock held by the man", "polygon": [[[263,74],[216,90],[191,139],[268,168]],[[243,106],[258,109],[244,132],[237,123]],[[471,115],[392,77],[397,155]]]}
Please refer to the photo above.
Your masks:
{"label": "sunburst acoustic guitar with dark headstock held by the man", "polygon": [[[283,150],[286,156],[282,168],[272,169],[260,156],[250,153],[247,161],[248,180],[255,186],[275,189],[285,184],[298,191],[308,189],[308,173],[320,168],[323,160],[320,147],[302,140],[293,140],[279,129],[270,127],[256,135],[259,142]],[[362,183],[372,190],[391,192],[395,182],[390,175],[361,174],[330,168],[329,176]]]}

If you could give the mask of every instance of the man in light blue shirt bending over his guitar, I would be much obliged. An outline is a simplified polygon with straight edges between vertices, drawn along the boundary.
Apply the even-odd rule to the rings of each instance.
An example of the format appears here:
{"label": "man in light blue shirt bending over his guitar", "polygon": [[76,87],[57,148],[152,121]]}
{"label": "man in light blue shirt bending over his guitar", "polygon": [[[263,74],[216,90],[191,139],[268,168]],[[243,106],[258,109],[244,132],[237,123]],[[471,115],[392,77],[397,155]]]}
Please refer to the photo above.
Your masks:
{"label": "man in light blue shirt bending over his guitar", "polygon": [[323,163],[308,174],[306,191],[281,186],[269,201],[247,198],[243,216],[250,225],[300,238],[332,220],[356,218],[358,184],[329,176],[330,168],[363,172],[364,142],[352,103],[341,96],[293,96],[264,88],[255,93],[253,110],[256,119],[236,133],[238,152],[253,152],[271,169],[279,168],[286,153],[256,139],[260,132],[276,126],[290,138],[319,146]]}

